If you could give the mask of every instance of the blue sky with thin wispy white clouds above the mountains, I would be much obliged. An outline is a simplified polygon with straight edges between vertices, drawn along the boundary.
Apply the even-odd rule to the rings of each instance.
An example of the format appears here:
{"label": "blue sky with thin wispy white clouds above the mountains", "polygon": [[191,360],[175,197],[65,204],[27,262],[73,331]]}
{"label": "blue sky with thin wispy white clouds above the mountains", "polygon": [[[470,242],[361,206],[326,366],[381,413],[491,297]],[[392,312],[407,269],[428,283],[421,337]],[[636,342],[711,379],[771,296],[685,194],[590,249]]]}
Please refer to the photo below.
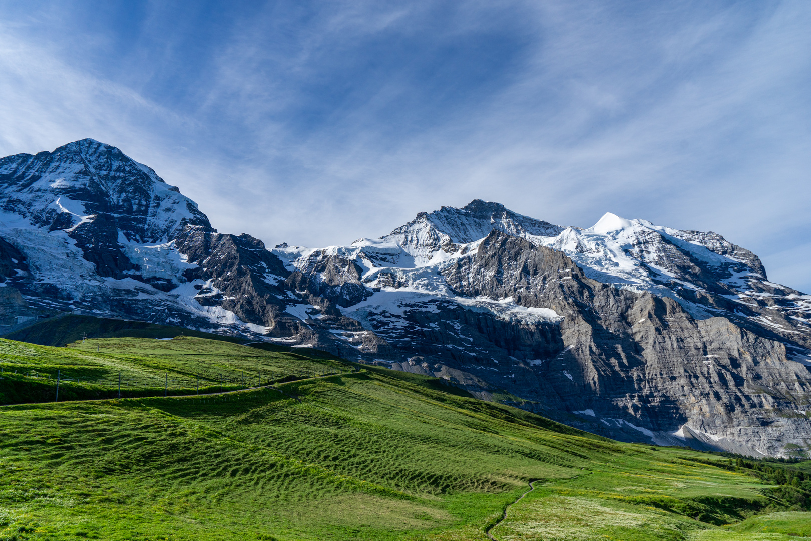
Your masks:
{"label": "blue sky with thin wispy white clouds above the mountains", "polygon": [[495,200],[811,291],[811,2],[0,3],[0,155],[92,137],[312,247]]}

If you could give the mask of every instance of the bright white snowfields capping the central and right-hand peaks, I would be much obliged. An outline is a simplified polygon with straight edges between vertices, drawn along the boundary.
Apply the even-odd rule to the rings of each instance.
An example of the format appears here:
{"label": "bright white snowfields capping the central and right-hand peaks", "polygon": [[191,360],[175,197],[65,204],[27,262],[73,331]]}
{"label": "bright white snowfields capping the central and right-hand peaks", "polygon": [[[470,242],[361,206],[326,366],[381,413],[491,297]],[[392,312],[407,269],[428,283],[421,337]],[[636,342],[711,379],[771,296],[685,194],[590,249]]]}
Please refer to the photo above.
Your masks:
{"label": "bright white snowfields capping the central and right-hand peaks", "polygon": [[[364,285],[374,288],[375,294],[345,308],[345,315],[350,317],[354,317],[353,314],[362,317],[372,305],[375,306],[373,311],[395,313],[406,307],[426,309],[428,299],[440,299],[471,309],[487,309],[509,318],[536,316],[536,321],[556,320],[557,315],[551,309],[543,313],[522,311],[514,303],[505,309],[512,299],[460,298],[448,290],[441,271],[461,257],[474,255],[492,230],[525,238],[536,246],[563,251],[594,280],[675,298],[698,319],[717,316],[719,311],[695,303],[682,293],[702,294],[706,290],[695,277],[700,275],[674,267],[674,257],[683,260],[686,267],[703,264],[720,276],[727,275],[720,283],[739,291],[733,295],[738,303],[747,303],[749,295],[757,298],[773,295],[763,293],[764,289],[783,287],[766,281],[758,270],[762,266],[757,256],[714,233],[674,230],[613,213],[606,213],[588,229],[561,227],[512,213],[500,204],[478,200],[465,208],[443,207],[434,213],[419,213],[414,221],[379,239],[360,238],[347,246],[323,249],[277,248],[273,253],[291,270],[304,271],[314,260],[328,255],[352,260],[363,268]],[[418,301],[411,294],[425,297]],[[801,316],[811,308],[808,295],[790,290],[787,298],[793,303],[788,309],[792,316]],[[779,327],[770,320],[758,322]],[[805,328],[804,318],[798,323],[800,328]],[[784,326],[781,328],[787,330]],[[811,325],[808,333],[811,333]]]}

